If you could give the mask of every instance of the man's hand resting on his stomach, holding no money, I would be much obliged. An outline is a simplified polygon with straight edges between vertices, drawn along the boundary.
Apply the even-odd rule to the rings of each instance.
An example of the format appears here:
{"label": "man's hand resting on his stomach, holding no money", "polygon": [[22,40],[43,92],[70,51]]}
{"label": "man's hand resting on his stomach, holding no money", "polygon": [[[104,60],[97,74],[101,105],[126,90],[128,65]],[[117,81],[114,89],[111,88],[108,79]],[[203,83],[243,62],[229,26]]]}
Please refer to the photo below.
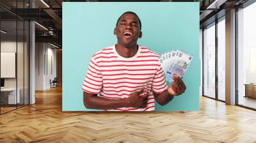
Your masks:
{"label": "man's hand resting on his stomach, holding no money", "polygon": [[131,107],[137,109],[147,107],[148,94],[146,96],[141,96],[140,94],[142,94],[143,92],[145,92],[143,89],[141,91],[136,91],[127,98],[127,102]]}

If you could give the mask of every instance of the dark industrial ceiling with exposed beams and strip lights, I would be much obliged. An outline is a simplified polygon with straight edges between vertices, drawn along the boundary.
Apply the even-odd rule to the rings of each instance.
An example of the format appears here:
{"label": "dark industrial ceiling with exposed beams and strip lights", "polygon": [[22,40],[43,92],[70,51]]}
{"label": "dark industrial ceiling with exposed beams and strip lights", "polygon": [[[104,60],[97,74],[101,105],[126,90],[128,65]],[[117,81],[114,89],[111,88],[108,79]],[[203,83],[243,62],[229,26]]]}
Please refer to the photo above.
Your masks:
{"label": "dark industrial ceiling with exposed beams and strip lights", "polygon": [[[96,0],[78,0],[78,1],[66,0],[66,1],[68,2],[89,2],[89,1],[92,2],[93,1],[94,2]],[[138,0],[132,0],[132,1],[138,1]],[[160,2],[166,2],[166,1],[167,0],[160,0]],[[218,17],[221,17],[221,15],[222,16],[225,15],[225,10],[234,8],[234,6],[239,6],[248,0],[171,0],[171,1],[172,2],[200,2],[200,13],[199,13],[200,27],[204,27],[215,20],[216,13],[218,13]],[[6,27],[5,30],[10,31],[10,34],[11,33],[16,34],[16,31],[13,30],[16,28],[16,24],[15,24],[16,19],[35,20],[38,23],[38,24],[35,24],[36,41],[56,43],[56,45],[60,45],[61,47],[62,2],[64,2],[64,0],[30,0],[30,1],[29,0],[1,0],[0,16],[2,20],[1,25],[3,25],[1,26],[1,28],[3,29],[3,27]],[[109,2],[109,0],[101,0],[101,1],[99,0],[98,2]],[[23,31],[23,29],[22,27],[19,27],[17,33],[18,34],[22,33],[21,31]]]}

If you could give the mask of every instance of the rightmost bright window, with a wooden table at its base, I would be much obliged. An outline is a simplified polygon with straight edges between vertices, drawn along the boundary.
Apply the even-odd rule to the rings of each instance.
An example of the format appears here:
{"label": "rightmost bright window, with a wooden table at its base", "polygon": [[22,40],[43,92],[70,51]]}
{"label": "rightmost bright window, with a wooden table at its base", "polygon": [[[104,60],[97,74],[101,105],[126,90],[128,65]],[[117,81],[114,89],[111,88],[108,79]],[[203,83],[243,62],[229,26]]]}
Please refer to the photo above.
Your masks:
{"label": "rightmost bright window, with a wooden table at its base", "polygon": [[256,3],[237,11],[238,105],[256,109]]}

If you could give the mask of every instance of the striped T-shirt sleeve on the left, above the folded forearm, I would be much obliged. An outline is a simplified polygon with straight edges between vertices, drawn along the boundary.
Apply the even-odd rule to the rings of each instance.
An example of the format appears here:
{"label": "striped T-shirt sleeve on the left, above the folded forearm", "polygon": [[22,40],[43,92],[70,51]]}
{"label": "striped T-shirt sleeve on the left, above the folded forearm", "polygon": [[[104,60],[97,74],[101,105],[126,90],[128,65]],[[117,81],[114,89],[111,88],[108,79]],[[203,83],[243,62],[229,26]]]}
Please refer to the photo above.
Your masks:
{"label": "striped T-shirt sleeve on the left, above the folded forearm", "polygon": [[82,90],[86,93],[98,94],[102,89],[102,73],[100,72],[100,66],[95,59],[91,59],[87,69],[86,76],[84,77],[84,83]]}

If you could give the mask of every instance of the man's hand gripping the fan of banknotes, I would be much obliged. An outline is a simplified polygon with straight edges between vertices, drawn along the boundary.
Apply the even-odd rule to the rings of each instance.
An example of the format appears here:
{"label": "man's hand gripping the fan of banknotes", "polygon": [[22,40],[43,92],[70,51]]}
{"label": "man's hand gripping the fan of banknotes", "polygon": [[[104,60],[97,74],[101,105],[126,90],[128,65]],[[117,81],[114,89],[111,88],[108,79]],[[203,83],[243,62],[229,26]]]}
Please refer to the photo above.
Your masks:
{"label": "man's hand gripping the fan of banknotes", "polygon": [[184,93],[186,90],[186,86],[182,81],[182,79],[180,79],[180,77],[177,77],[175,75],[173,75],[172,78],[174,81],[172,82],[171,86],[168,88],[168,93],[172,95],[180,95]]}

